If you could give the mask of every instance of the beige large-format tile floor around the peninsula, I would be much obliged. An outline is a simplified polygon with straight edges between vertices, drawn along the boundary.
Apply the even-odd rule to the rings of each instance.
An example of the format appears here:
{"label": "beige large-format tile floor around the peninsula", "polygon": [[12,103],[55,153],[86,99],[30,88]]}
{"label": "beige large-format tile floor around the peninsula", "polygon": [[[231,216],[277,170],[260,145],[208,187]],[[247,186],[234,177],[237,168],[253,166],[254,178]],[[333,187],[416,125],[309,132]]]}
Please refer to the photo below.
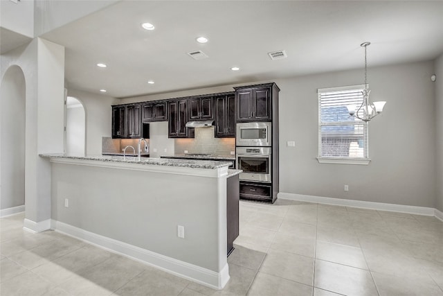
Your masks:
{"label": "beige large-format tile floor around the peninsula", "polygon": [[443,295],[443,222],[325,204],[240,202],[216,291],[57,232],[1,218],[0,295]]}

